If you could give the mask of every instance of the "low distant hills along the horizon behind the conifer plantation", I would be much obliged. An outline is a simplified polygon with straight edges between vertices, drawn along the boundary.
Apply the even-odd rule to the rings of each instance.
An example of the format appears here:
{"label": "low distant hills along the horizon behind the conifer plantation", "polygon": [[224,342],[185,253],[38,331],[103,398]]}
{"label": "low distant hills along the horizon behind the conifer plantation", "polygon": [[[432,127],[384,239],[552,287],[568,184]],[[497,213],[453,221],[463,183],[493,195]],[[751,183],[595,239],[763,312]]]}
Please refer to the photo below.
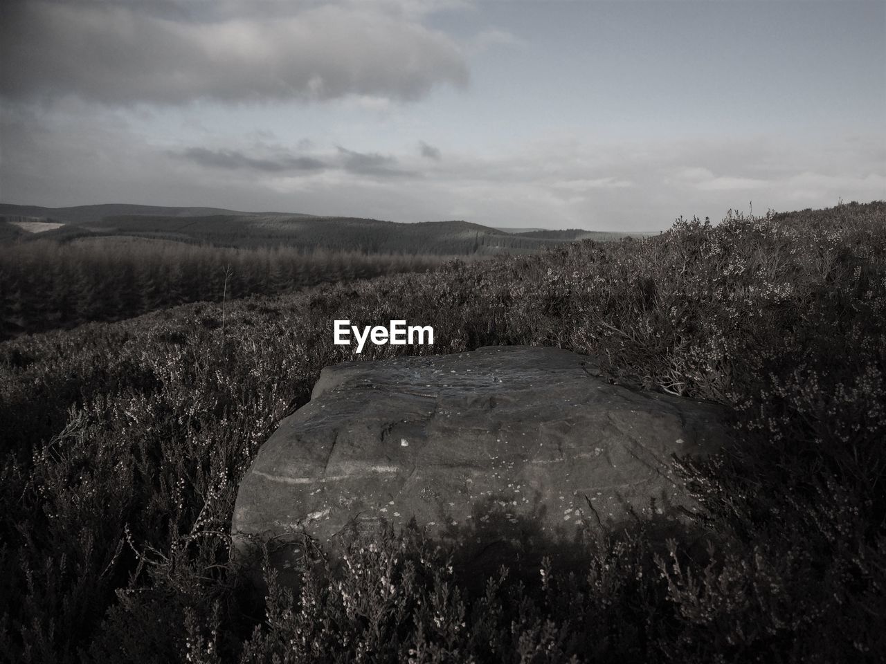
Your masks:
{"label": "low distant hills along the horizon behind the conifer plantation", "polygon": [[[48,223],[63,223],[52,228]],[[40,232],[28,232],[28,231]],[[518,229],[511,229],[518,230]],[[284,212],[238,212],[209,207],[83,205],[46,208],[0,205],[0,242],[54,239],[103,242],[136,236],[222,247],[295,247],[366,254],[489,256],[534,253],[589,237],[611,240],[627,234],[585,230],[513,233],[462,220],[395,223],[355,217],[319,217]]]}

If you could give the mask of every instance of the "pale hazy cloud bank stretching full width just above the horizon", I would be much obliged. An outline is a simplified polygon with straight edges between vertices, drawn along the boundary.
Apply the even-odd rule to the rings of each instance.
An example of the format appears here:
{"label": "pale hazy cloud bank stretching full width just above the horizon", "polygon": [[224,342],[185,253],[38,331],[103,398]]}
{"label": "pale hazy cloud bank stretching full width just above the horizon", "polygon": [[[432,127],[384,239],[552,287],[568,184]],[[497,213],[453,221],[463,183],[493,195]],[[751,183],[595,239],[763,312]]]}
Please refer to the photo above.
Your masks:
{"label": "pale hazy cloud bank stretching full width just above the horizon", "polygon": [[[136,113],[76,99],[34,112],[0,104],[0,200],[208,205],[394,221],[465,219],[525,228],[657,230],[680,216],[722,217],[882,198],[878,135],[602,142],[559,135],[507,151],[421,155],[418,135],[361,151],[329,136],[264,142],[242,127],[201,143],[144,131]],[[447,140],[424,134],[433,144]],[[878,143],[879,142],[879,143]],[[350,145],[351,143],[346,143]],[[356,145],[356,143],[354,143]],[[305,161],[305,159],[313,159]],[[408,186],[404,186],[408,183]],[[632,183],[633,186],[625,186]],[[710,186],[711,183],[719,187]],[[756,185],[729,189],[724,184]]]}

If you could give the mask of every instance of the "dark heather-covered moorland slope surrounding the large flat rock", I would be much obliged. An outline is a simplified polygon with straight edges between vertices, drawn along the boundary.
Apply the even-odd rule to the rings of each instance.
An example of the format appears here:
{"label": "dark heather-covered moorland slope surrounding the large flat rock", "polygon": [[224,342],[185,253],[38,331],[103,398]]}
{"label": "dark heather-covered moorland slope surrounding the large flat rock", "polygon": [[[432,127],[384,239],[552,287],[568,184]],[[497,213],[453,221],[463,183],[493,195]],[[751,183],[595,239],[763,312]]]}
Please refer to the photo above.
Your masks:
{"label": "dark heather-covered moorland slope surrounding the large flat rock", "polygon": [[[164,247],[144,274],[171,269]],[[184,283],[217,289],[221,258]],[[149,282],[133,283],[154,307]],[[703,506],[692,528],[666,542],[654,521],[604,532],[579,575],[554,560],[472,592],[470,569],[446,551],[388,531],[355,542],[346,566],[313,551],[297,591],[271,576],[256,598],[229,559],[239,478],[323,366],[403,348],[355,358],[332,344],[343,318],[432,325],[427,352],[594,354],[611,382],[727,405],[735,444],[679,464]],[[884,372],[882,202],[680,219],[649,238],[19,336],[0,344],[0,652],[13,662],[882,661]]]}

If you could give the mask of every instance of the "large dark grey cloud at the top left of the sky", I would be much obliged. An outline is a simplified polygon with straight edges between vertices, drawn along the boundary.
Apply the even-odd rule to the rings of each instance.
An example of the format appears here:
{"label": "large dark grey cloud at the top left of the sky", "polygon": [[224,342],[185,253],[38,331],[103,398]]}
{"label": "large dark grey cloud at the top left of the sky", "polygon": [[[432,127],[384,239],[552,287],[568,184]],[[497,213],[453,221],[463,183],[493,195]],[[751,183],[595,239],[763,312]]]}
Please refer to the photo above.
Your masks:
{"label": "large dark grey cloud at the top left of the sky", "polygon": [[279,15],[261,12],[263,3],[200,14],[204,5],[6,0],[0,95],[104,104],[412,101],[469,79],[459,45],[424,27],[411,4],[299,3]]}

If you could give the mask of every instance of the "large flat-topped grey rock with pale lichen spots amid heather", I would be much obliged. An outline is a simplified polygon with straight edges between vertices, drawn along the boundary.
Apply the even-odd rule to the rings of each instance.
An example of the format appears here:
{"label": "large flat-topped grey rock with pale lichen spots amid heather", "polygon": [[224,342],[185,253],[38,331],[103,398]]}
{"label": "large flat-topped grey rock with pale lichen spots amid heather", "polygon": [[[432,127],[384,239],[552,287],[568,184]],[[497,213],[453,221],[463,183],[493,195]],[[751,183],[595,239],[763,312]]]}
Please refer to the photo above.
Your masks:
{"label": "large flat-topped grey rock with pale lichen spots amid heather", "polygon": [[349,526],[415,518],[486,552],[527,529],[570,541],[650,498],[691,508],[670,455],[726,439],[719,406],[610,385],[556,348],[349,362],[261,446],[232,533],[240,551],[299,533],[334,546]]}

